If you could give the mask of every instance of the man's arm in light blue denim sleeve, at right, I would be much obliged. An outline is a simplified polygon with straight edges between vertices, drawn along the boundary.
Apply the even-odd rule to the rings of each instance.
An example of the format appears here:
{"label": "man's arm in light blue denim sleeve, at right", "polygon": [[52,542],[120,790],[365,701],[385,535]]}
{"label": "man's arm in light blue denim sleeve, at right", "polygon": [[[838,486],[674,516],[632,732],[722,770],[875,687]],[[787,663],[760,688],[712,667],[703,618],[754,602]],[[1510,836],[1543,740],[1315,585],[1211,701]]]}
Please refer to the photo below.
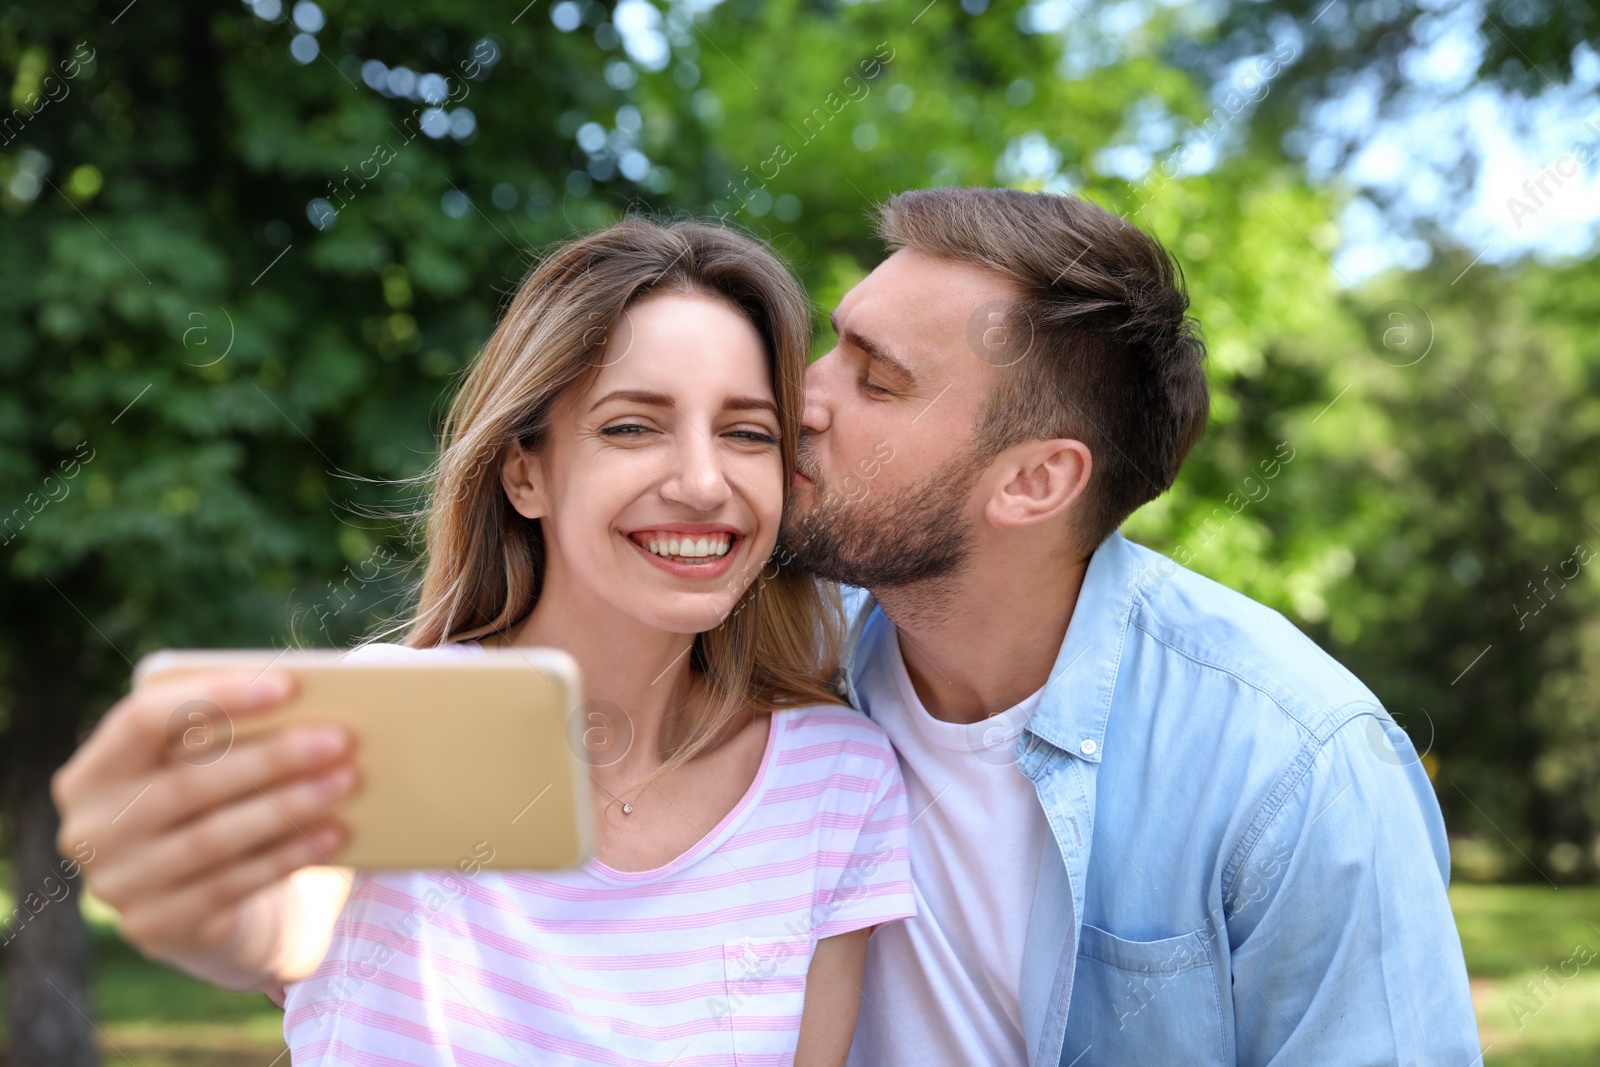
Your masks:
{"label": "man's arm in light blue denim sleeve, at right", "polygon": [[1387,717],[1357,715],[1224,886],[1238,1064],[1470,1067],[1477,1021],[1448,878],[1416,750]]}

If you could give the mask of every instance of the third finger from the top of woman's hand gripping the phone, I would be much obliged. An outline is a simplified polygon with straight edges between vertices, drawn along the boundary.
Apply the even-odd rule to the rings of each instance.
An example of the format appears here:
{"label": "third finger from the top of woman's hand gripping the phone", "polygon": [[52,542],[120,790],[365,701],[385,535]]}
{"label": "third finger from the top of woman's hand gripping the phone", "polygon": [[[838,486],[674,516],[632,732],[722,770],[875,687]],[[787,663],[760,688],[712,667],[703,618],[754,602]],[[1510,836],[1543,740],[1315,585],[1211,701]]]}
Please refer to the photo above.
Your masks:
{"label": "third finger from the top of woman's hand gripping the phone", "polygon": [[[149,838],[138,849],[114,849],[99,857],[94,893],[123,907],[203,881],[277,841],[304,838],[307,827],[325,825],[334,805],[357,785],[355,768],[336,763],[317,777],[294,779],[270,790],[251,789],[234,803],[203,808],[200,817]],[[314,851],[307,862],[328,864],[331,859]]]}

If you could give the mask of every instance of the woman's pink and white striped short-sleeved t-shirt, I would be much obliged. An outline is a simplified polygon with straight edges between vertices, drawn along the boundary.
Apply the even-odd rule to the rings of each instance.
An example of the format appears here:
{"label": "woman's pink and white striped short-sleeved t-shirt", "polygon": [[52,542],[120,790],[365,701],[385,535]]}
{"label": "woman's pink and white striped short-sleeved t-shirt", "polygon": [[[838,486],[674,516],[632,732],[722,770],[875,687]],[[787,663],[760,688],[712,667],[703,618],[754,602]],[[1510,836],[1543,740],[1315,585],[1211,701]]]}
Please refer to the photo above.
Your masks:
{"label": "woman's pink and white striped short-sleeved t-shirt", "polygon": [[773,712],[749,792],[666,867],[360,872],[328,955],[288,987],[291,1061],[789,1064],[818,939],[917,910],[907,822],[878,726]]}

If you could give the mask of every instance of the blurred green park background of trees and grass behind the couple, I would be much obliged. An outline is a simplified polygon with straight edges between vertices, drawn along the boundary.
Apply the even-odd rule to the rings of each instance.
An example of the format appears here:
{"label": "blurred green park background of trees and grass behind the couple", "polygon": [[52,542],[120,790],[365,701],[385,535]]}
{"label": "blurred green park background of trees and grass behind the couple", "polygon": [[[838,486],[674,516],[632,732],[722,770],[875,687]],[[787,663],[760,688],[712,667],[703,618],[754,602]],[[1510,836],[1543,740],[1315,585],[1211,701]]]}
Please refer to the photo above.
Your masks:
{"label": "blurred green park background of trees and grass behind the couple", "polygon": [[1126,533],[1411,733],[1485,1062],[1600,1062],[1570,965],[1600,950],[1597,29],[1550,0],[8,5],[5,1062],[282,1053],[261,997],[80,907],[48,776],[146,651],[403,606],[416,545],[371,515],[542,246],[728,216],[822,326],[872,205],[952,182],[1078,192],[1174,251],[1214,418]]}

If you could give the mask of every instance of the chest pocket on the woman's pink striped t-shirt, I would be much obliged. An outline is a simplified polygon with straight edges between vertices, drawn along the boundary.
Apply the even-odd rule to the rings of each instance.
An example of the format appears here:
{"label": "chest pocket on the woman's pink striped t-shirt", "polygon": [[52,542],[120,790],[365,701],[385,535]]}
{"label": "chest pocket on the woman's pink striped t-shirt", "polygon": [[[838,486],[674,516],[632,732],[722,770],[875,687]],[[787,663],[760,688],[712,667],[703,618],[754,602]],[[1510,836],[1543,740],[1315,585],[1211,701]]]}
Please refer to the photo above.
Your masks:
{"label": "chest pocket on the woman's pink striped t-shirt", "polygon": [[811,937],[739,937],[722,945],[726,1022],[734,1062],[754,1056],[792,1056],[800,1040],[805,976],[816,941]]}

